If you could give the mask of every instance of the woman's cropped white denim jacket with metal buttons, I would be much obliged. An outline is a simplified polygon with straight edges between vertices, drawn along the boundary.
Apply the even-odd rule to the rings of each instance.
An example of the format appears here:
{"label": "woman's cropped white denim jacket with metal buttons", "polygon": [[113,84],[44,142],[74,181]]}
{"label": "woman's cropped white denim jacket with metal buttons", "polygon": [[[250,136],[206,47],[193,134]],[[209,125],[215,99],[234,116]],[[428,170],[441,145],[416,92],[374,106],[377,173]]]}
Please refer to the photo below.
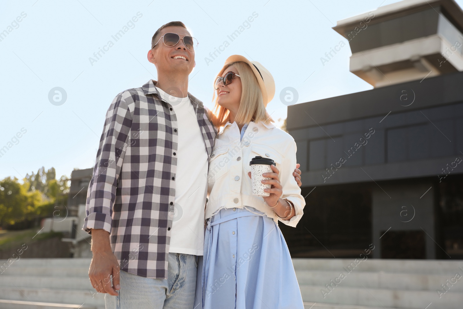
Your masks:
{"label": "woman's cropped white denim jacket with metal buttons", "polygon": [[[251,206],[264,212],[276,223],[282,221],[296,227],[304,214],[302,209],[306,202],[293,176],[296,168],[296,143],[293,137],[272,123],[265,124],[263,121],[250,121],[241,141],[240,135],[237,123],[229,121],[215,138],[209,159],[205,218],[210,218],[221,208]],[[248,172],[251,171],[251,158],[256,156],[275,161],[283,191],[280,197],[292,202],[295,208],[295,215],[290,220],[282,220],[264,202],[263,197],[252,195]]]}

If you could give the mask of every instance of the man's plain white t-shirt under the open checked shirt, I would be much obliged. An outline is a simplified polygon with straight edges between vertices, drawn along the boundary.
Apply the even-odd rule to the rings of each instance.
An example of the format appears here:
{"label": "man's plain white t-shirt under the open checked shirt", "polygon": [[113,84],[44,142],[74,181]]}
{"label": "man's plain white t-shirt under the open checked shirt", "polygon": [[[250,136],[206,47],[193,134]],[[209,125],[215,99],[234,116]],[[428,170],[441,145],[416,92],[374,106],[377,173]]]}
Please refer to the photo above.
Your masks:
{"label": "man's plain white t-shirt under the open checked shirt", "polygon": [[169,252],[203,255],[208,166],[206,146],[190,98],[174,97],[158,87],[156,89],[162,99],[172,105],[178,126],[175,212]]}

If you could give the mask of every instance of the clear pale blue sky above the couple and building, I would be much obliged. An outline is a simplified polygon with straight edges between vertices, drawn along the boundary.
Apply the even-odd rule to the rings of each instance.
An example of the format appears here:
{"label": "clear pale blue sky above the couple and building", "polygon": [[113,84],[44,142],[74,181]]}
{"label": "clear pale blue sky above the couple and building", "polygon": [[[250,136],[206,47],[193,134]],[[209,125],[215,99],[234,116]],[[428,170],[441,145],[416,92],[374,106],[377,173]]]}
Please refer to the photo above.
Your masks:
{"label": "clear pale blue sky above the couple and building", "polygon": [[[332,30],[338,20],[394,2],[1,0],[0,32],[11,32],[0,41],[0,148],[13,146],[0,158],[0,179],[22,179],[41,166],[55,167],[57,177],[93,168],[113,98],[156,79],[146,55],[156,29],[169,21],[181,20],[199,41],[191,94],[212,108],[213,78],[228,56],[240,54],[274,76],[275,98],[267,110],[281,122],[287,113],[283,88],[296,89],[297,103],[372,88],[349,72],[348,44],[328,63],[320,57],[341,40],[347,43]],[[228,36],[240,26],[232,41]],[[112,36],[120,30],[126,32],[116,41]],[[105,47],[108,41],[111,47]],[[220,47],[224,41],[226,48]],[[106,51],[96,58],[100,49]],[[55,87],[64,89],[59,102],[53,91],[49,99]]]}

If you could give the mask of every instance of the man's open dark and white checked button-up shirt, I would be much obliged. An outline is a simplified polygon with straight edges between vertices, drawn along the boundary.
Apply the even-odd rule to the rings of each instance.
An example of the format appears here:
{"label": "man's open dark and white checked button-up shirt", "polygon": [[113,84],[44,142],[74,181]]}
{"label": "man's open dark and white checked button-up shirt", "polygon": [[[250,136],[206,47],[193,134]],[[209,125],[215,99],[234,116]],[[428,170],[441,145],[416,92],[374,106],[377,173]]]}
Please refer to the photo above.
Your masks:
{"label": "man's open dark and white checked button-up shirt", "polygon": [[[120,268],[167,278],[175,204],[177,118],[150,80],[117,95],[106,113],[87,192],[83,230],[111,233]],[[201,101],[188,93],[208,157],[217,133]]]}

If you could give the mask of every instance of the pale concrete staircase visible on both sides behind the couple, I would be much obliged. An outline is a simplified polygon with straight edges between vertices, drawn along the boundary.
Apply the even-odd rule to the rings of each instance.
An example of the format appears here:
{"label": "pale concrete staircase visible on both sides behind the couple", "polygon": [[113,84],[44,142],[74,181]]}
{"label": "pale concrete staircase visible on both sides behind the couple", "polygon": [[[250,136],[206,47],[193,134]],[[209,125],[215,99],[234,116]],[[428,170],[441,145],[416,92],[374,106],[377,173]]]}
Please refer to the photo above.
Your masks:
{"label": "pale concrete staircase visible on both sides behind the couple", "polygon": [[[0,266],[4,263],[0,261]],[[463,308],[463,277],[456,277],[457,273],[463,276],[463,260],[367,259],[357,263],[354,259],[293,259],[305,308]],[[104,295],[92,288],[89,265],[90,259],[19,259],[4,265],[0,308],[103,309]]]}

